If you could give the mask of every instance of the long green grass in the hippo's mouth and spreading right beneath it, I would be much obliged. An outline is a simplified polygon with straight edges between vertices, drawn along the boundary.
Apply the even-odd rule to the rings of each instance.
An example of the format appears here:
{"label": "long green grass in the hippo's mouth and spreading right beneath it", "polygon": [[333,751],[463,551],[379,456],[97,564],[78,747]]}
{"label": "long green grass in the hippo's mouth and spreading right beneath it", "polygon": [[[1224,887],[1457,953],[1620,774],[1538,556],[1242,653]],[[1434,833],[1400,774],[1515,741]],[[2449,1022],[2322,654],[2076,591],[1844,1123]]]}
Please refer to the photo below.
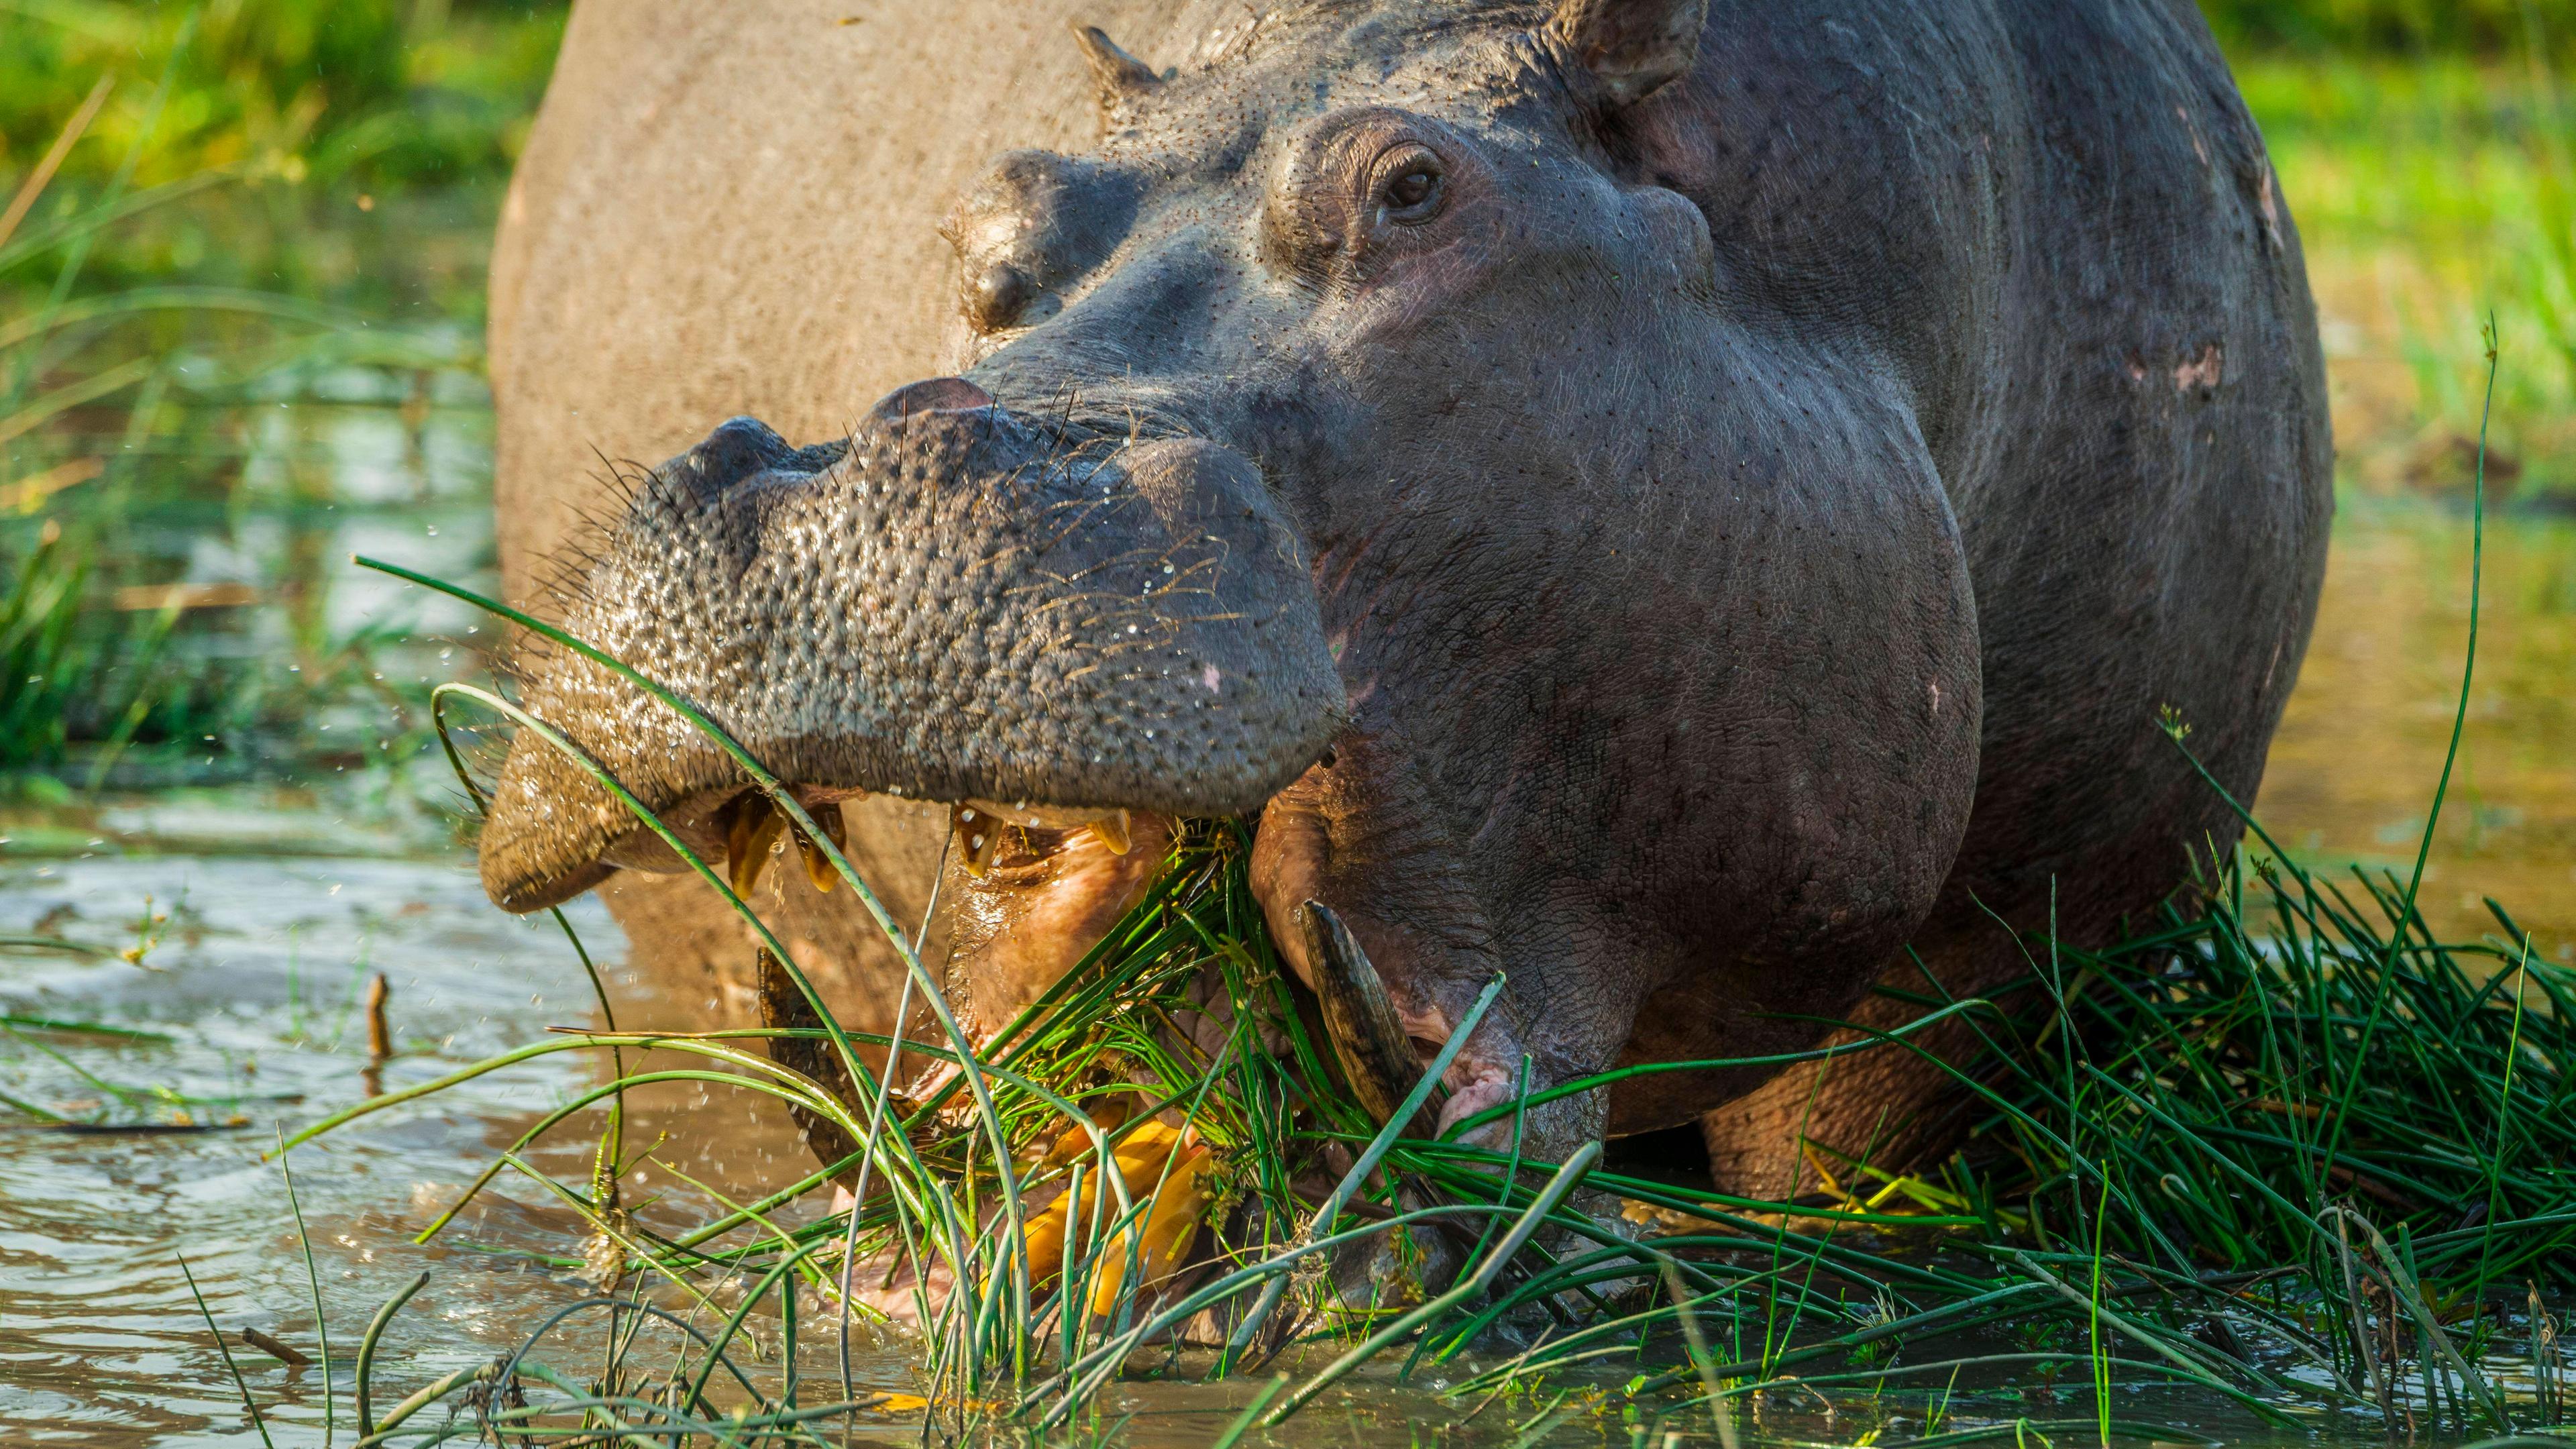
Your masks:
{"label": "long green grass in the hippo's mouth and spreading right beneath it", "polygon": [[[443,696],[587,766],[500,696]],[[2172,722],[2177,748],[2184,732]],[[2030,975],[2007,990],[1919,1000],[1978,1036],[1953,1073],[1981,1119],[1950,1160],[1883,1171],[1808,1142],[1816,1191],[1747,1201],[1618,1173],[1597,1145],[1522,1160],[1517,1127],[1507,1152],[1401,1134],[1445,1060],[1381,1127],[1265,938],[1234,822],[1182,830],[1162,884],[1018,1021],[969,1044],[829,835],[737,761],[907,954],[940,1034],[904,1049],[963,1070],[899,1096],[855,1049],[884,1042],[842,1031],[775,951],[778,998],[804,1021],[611,1021],[307,1127],[294,1142],[533,1055],[613,1065],[466,1194],[518,1173],[580,1212],[590,1238],[554,1266],[598,1292],[379,1415],[392,1392],[371,1392],[371,1351],[397,1297],[358,1348],[366,1441],[435,1441],[459,1423],[526,1441],[819,1441],[889,1413],[943,1439],[1103,1439],[1121,1379],[1190,1374],[1252,1385],[1221,1439],[1234,1444],[1360,1369],[1458,1415],[1530,1395],[1525,1439],[1615,1413],[1633,1444],[1710,1423],[1734,1441],[1741,1410],[1785,1392],[1917,1446],[2197,1439],[2115,1418],[2143,1385],[2269,1423],[2566,1421],[2566,1320],[2550,1305],[2576,1289],[2576,972],[2532,959],[2504,908],[2486,941],[2434,938],[2414,908],[2421,869],[2318,879],[2254,828],[2133,938],[2032,938]],[[647,1047],[698,1062],[626,1070]],[[1816,1057],[1917,1049],[1880,1034]],[[641,1152],[621,1137],[621,1093],[659,1080],[765,1093],[848,1152],[672,1227],[634,1204]],[[585,1178],[562,1181],[531,1145],[574,1122],[598,1124],[600,1147]],[[835,1178],[855,1209],[822,1207]],[[829,1366],[829,1341],[884,1305],[917,1325],[914,1395],[855,1392],[848,1338]],[[835,1377],[837,1395],[817,1392]],[[2084,1415],[2035,1421],[1976,1395],[1999,1382],[2066,1392]],[[440,1400],[471,1418],[428,1415]]]}

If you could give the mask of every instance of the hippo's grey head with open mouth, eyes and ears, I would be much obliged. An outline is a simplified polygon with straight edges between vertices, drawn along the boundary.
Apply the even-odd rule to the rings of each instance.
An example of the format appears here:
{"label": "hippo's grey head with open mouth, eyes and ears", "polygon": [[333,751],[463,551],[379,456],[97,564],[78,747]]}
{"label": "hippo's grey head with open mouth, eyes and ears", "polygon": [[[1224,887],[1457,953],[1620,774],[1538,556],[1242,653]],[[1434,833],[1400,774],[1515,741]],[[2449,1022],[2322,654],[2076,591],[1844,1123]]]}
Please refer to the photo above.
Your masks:
{"label": "hippo's grey head with open mouth, eyes and ears", "polygon": [[[1646,1000],[1847,1003],[1958,843],[1973,608],[1880,358],[1754,317],[1656,173],[1705,3],[1216,5],[1154,64],[1079,34],[1103,144],[1002,155],[948,222],[958,376],[806,449],[724,423],[569,627],[811,802],[956,807],[961,913],[1090,923],[961,928],[1007,995],[1133,882],[1092,866],[1260,812],[1298,969],[1309,897],[1417,1039],[1510,969],[1453,1116],[1522,1055],[1610,1065]],[[739,848],[744,776],[667,709],[564,657],[528,706]],[[618,866],[675,861],[523,737],[492,897]],[[1685,980],[1710,900],[1747,915]],[[1803,951],[1842,977],[1744,985]]]}

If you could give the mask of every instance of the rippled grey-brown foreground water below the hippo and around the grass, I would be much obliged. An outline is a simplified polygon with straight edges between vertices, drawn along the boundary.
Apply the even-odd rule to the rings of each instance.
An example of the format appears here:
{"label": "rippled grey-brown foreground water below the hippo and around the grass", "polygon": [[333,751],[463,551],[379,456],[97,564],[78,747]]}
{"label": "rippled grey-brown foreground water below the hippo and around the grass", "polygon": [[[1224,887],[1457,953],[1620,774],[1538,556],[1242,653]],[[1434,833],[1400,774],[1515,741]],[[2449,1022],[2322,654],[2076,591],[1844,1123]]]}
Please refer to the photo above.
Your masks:
{"label": "rippled grey-brown foreground water below the hippo and around the grass", "polygon": [[[605,957],[621,1018],[688,1006],[662,1000],[657,982],[618,969],[616,931],[595,902],[580,902],[572,915]],[[0,1441],[252,1444],[224,1359],[180,1274],[185,1256],[278,1444],[322,1444],[319,1369],[278,1364],[242,1341],[245,1328],[258,1328],[304,1354],[319,1351],[294,1209],[276,1163],[263,1160],[263,1147],[276,1142],[273,1124],[314,1122],[368,1093],[363,998],[376,972],[392,990],[399,1049],[381,1067],[381,1085],[397,1091],[541,1042],[549,1026],[592,1021],[587,977],[549,923],[489,910],[461,856],[93,853],[0,861],[0,936],[31,933],[98,951],[0,949],[0,1013],[103,1024],[152,1039],[111,1044],[18,1029],[0,1047],[0,1091],[108,1124],[173,1124],[180,1114],[240,1124],[185,1134],[75,1134],[28,1122],[0,1129]],[[157,938],[139,951],[139,962],[113,954],[139,938]],[[294,1152],[296,1194],[340,1364],[340,1444],[350,1441],[355,1338],[417,1271],[430,1271],[430,1287],[384,1338],[379,1408],[453,1369],[507,1354],[551,1312],[592,1294],[580,1276],[587,1227],[526,1178],[502,1176],[479,1209],[459,1217],[433,1245],[412,1243],[495,1152],[590,1080],[590,1067],[572,1055],[523,1062],[361,1119]],[[595,1132],[595,1114],[574,1116],[533,1158],[551,1176],[580,1181]],[[739,1201],[801,1176],[811,1163],[768,1098],[724,1088],[685,1088],[636,1104],[626,1142],[652,1152],[649,1168],[631,1173],[629,1183],[659,1194],[659,1201],[631,1204],[636,1222],[665,1232],[711,1217],[706,1189]],[[793,1212],[781,1217],[788,1225],[799,1220]],[[701,1328],[714,1328],[734,1302],[721,1287],[716,1294],[716,1307],[693,1315]],[[675,1294],[659,1297],[688,1310]],[[819,1323],[824,1307],[804,1297],[799,1315]],[[755,1320],[752,1338],[762,1343],[760,1354],[775,1354],[770,1320]],[[1924,1343],[1922,1354],[1929,1361],[1953,1348],[1986,1354],[2012,1346],[2017,1341],[1981,1338]],[[595,1318],[574,1320],[549,1341],[546,1359],[590,1372],[598,1351]],[[1327,1341],[1293,1366],[1314,1372],[1337,1351]],[[917,1390],[914,1361],[899,1336],[858,1336],[860,1387]],[[829,1336],[811,1336],[801,1364],[817,1395],[837,1390]],[[1499,1354],[1468,1354],[1409,1387],[1391,1385],[1394,1364],[1381,1364],[1293,1426],[1249,1444],[1409,1449],[1437,1441],[1499,1449],[1625,1441],[1620,1410],[1615,1403],[1605,1408],[1584,1377],[1481,1405],[1437,1397],[1443,1387],[1497,1364]],[[2295,1374],[2295,1364],[2277,1366]],[[1623,1354],[1597,1379],[1618,1385],[1631,1372],[1636,1364]],[[1195,1449],[1221,1434],[1257,1387],[1257,1379],[1123,1385],[1103,1400],[1103,1415],[1090,1428],[1123,1423],[1110,1441]],[[1473,1418],[1458,1426],[1468,1413]],[[2115,1413],[2192,1423],[2231,1441],[2277,1439],[2226,1400],[2143,1377],[2117,1387]],[[1832,1408],[1772,1395],[1747,1408],[1739,1434],[1788,1449],[1911,1439],[1935,1418],[1942,1428],[1960,1428],[2025,1415],[2050,1434],[2081,1431],[2089,1423],[2087,1390],[2074,1379],[2056,1382],[2056,1374],[2007,1379],[1989,1369],[1968,1379],[1899,1382]],[[2318,1428],[2336,1426],[2336,1415],[2316,1410],[2303,1410],[2303,1418]],[[1430,1434],[1432,1426],[1440,1431]],[[1669,1428],[1669,1439],[1656,1439],[1659,1449],[1721,1444],[1703,1415]],[[853,1444],[909,1444],[914,1434],[899,1418],[860,1415]],[[1092,1439],[1056,1439],[1066,1441]]]}

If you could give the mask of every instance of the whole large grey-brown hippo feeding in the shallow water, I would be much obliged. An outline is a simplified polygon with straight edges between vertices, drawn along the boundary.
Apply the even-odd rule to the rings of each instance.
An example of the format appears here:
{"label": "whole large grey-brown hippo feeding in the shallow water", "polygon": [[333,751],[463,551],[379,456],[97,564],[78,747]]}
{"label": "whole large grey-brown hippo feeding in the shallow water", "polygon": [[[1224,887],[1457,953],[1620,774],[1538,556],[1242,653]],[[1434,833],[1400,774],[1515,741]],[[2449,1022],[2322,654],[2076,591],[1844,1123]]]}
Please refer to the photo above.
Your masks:
{"label": "whole large grey-brown hippo feeding in the shallow water", "polygon": [[[510,598],[935,900],[969,1029],[1252,820],[1288,967],[1383,982],[1350,1060],[1419,1073],[1504,977],[1443,1127],[2117,936],[2231,848],[2195,758],[2254,797],[2331,516],[2298,232],[2187,0],[585,0],[489,358]],[[896,1026],[729,758],[523,665]],[[752,1008],[544,743],[479,851]],[[1968,1031],[1638,1073],[1528,1150],[1695,1132],[1785,1196],[1955,1142]]]}

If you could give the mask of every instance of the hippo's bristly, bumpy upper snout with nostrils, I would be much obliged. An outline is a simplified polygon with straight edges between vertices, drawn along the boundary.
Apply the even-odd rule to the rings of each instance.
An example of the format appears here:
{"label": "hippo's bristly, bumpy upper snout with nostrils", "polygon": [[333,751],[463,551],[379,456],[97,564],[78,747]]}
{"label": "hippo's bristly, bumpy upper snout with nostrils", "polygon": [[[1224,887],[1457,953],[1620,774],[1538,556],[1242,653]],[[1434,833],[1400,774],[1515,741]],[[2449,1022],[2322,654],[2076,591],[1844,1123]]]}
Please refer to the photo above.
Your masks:
{"label": "hippo's bristly, bumpy upper snout with nostrils", "polygon": [[[590,554],[567,629],[809,799],[1239,815],[1342,722],[1303,547],[1247,459],[1051,428],[963,379],[899,389],[842,443],[734,418]],[[747,779],[714,743],[590,660],[538,647],[526,673],[536,717],[724,851]],[[616,866],[677,859],[523,735],[484,890],[538,910]]]}

